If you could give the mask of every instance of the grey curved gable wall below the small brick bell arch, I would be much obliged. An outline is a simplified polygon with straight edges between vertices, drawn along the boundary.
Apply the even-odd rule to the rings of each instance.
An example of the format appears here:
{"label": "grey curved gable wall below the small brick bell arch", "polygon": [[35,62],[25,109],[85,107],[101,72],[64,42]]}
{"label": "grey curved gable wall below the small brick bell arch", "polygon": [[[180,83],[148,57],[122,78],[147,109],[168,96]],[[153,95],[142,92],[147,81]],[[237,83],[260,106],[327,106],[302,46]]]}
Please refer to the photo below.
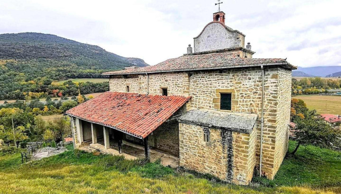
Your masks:
{"label": "grey curved gable wall below the small brick bell arch", "polygon": [[244,36],[228,31],[222,23],[208,24],[204,31],[194,38],[194,52],[244,47]]}

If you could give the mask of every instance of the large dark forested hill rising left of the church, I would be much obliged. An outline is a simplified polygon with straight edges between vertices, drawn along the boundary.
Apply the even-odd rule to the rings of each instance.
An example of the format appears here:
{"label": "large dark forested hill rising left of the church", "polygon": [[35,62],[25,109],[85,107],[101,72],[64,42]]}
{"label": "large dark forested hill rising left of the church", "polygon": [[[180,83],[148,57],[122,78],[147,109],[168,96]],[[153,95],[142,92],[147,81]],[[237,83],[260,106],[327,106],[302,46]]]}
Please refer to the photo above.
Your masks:
{"label": "large dark forested hill rising left of the church", "polygon": [[[0,59],[19,60],[24,67],[29,63],[33,71],[36,67],[39,70],[53,70],[57,73],[51,75],[55,80],[65,79],[65,76],[67,78],[97,77],[104,70],[148,65],[141,59],[137,59],[140,63],[133,63],[131,58],[121,57],[98,46],[52,34],[33,32],[0,34]],[[19,70],[31,73],[23,68]]]}

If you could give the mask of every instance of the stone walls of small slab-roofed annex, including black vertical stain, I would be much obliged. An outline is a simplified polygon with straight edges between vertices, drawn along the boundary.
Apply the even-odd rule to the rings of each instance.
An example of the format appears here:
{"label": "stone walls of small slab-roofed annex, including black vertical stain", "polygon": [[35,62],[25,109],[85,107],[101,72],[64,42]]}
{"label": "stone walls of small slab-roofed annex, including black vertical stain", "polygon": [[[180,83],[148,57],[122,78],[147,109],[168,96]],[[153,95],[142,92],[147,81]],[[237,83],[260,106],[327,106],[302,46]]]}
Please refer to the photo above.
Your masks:
{"label": "stone walls of small slab-roofed annex, including black vertical stain", "polygon": [[250,134],[180,123],[180,166],[227,182],[248,185],[255,167],[256,130]]}

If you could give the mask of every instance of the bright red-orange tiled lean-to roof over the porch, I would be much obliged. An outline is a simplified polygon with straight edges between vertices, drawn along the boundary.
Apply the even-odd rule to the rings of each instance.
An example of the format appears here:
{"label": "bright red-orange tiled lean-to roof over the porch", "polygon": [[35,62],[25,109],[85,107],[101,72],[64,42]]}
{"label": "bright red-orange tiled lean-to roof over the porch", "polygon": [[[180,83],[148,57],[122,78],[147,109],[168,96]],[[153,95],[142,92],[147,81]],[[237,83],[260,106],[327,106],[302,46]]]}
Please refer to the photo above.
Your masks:
{"label": "bright red-orange tiled lean-to roof over the porch", "polygon": [[190,97],[105,92],[66,113],[145,138]]}

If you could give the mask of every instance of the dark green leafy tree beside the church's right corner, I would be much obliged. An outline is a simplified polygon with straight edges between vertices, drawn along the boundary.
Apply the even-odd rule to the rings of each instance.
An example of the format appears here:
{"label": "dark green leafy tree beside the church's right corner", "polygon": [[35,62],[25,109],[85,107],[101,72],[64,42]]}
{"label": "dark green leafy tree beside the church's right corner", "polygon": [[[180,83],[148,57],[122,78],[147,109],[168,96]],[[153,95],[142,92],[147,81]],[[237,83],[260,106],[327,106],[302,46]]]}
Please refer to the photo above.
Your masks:
{"label": "dark green leafy tree beside the church's right corner", "polygon": [[293,155],[301,145],[326,148],[341,146],[341,130],[334,129],[321,118],[296,118],[295,124],[294,134],[296,135],[297,146],[292,152]]}

